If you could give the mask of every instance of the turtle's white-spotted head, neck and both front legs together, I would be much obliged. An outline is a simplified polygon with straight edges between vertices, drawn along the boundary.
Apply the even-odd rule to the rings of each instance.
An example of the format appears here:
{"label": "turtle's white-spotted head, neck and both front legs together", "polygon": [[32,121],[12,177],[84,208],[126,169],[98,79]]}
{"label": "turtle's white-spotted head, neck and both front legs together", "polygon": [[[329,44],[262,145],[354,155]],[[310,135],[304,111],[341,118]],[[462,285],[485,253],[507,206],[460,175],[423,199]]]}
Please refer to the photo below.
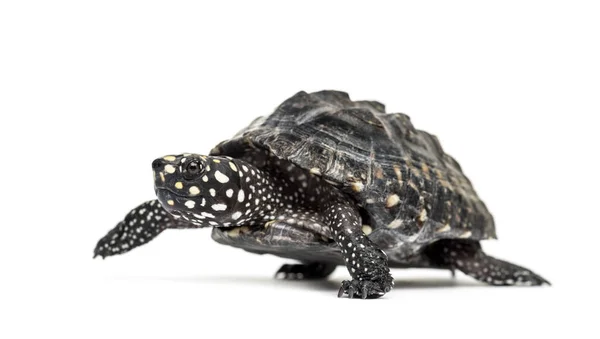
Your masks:
{"label": "turtle's white-spotted head, neck and both front legs together", "polygon": [[[125,253],[166,228],[260,228],[283,221],[338,244],[352,276],[343,282],[342,294],[376,298],[393,286],[387,258],[362,232],[355,204],[291,163],[276,160],[266,172],[239,159],[183,154],[157,159],[152,167],[162,208],[149,202],[134,209],[99,242],[97,255]],[[148,219],[147,207],[162,220]]]}

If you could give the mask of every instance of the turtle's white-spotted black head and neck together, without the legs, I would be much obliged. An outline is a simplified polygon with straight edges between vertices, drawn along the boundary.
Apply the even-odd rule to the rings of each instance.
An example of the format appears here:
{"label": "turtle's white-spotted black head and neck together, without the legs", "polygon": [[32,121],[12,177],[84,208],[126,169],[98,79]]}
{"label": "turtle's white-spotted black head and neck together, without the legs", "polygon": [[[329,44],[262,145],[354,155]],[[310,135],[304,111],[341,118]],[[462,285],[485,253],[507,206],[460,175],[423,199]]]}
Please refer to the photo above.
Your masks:
{"label": "turtle's white-spotted black head and neck together, without the legs", "polygon": [[279,159],[263,164],[265,170],[242,159],[193,154],[157,161],[159,201],[174,216],[200,227],[251,226],[316,214],[328,187]]}

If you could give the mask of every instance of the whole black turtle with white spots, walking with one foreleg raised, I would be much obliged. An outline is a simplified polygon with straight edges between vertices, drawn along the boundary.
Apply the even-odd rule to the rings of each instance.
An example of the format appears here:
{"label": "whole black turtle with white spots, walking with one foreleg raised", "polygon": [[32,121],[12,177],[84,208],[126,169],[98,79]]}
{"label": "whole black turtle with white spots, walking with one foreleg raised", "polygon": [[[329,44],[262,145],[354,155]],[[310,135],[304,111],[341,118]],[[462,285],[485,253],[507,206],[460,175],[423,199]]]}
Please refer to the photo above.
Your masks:
{"label": "whole black turtle with white spots, walking with one foreleg raised", "polygon": [[171,228],[296,263],[276,277],[324,279],[345,266],[338,296],[378,298],[390,268],[462,271],[490,285],[544,285],[488,256],[494,219],[456,160],[409,116],[341,91],[298,92],[208,155],[152,162],[157,199],[129,212],[94,257],[122,254]]}

